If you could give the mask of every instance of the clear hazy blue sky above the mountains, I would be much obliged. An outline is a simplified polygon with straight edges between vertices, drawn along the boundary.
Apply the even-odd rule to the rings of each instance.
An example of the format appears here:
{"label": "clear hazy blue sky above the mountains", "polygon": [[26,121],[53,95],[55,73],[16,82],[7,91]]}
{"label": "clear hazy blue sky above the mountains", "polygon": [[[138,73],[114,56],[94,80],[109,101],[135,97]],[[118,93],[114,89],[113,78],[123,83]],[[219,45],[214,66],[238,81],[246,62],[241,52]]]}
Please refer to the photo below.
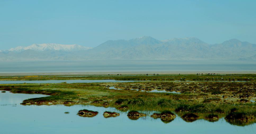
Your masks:
{"label": "clear hazy blue sky above the mountains", "polygon": [[0,50],[33,43],[95,47],[141,36],[256,43],[255,5],[256,0],[0,0]]}

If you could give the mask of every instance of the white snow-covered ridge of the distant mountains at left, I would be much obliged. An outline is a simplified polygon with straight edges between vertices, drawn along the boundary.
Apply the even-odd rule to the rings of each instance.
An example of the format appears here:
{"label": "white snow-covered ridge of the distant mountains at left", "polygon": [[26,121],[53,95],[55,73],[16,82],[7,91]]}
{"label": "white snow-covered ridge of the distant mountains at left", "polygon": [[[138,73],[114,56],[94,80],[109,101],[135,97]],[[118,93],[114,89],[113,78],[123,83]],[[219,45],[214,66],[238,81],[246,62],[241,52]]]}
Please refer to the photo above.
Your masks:
{"label": "white snow-covered ridge of the distant mountains at left", "polygon": [[47,43],[47,44],[33,44],[30,46],[18,46],[15,48],[11,48],[8,51],[14,52],[22,52],[25,50],[34,50],[34,51],[45,51],[45,50],[52,50],[52,51],[80,51],[80,50],[88,50],[92,49],[92,47],[84,47],[80,45],[62,45],[62,44],[55,44],[55,43]]}

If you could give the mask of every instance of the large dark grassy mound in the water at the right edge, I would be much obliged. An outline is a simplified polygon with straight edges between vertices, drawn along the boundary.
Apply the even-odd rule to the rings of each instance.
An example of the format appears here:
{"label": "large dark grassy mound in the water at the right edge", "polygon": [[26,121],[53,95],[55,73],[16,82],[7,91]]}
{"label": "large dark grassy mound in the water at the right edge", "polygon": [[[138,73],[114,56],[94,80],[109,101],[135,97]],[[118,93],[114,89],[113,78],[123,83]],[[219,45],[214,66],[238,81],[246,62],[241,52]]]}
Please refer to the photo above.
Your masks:
{"label": "large dark grassy mound in the water at the right edge", "polygon": [[255,122],[255,117],[253,114],[245,112],[231,112],[226,117],[225,120],[237,126],[246,126]]}

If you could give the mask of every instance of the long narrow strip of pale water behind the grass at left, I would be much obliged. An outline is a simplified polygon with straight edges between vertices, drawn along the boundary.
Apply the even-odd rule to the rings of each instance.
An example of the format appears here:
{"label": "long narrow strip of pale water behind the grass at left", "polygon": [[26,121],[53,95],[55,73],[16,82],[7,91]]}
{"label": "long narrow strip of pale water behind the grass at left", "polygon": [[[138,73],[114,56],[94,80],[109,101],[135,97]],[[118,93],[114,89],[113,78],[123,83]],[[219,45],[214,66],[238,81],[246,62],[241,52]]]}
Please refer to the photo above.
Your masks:
{"label": "long narrow strip of pale water behind the grass at left", "polygon": [[138,80],[0,80],[0,84],[22,83],[98,83],[98,82],[139,82]]}

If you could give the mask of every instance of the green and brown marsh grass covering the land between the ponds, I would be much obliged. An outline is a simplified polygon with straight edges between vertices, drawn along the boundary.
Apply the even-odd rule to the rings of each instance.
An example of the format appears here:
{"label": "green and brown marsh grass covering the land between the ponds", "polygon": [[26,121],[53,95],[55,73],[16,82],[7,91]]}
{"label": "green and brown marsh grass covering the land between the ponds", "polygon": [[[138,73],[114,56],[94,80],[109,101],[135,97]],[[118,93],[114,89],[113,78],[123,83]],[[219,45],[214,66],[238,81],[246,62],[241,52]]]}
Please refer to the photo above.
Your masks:
{"label": "green and brown marsh grass covering the land between the ponds", "polygon": [[[225,118],[227,122],[233,125],[243,126],[256,122],[256,103],[254,102],[256,99],[255,76],[232,75],[235,80],[242,80],[242,82],[230,82],[229,75],[87,76],[79,78],[152,81],[0,84],[0,90],[12,93],[51,95],[26,99],[21,103],[23,105],[64,104],[65,106],[72,106],[75,104],[91,104],[94,106],[115,107],[120,111],[129,110],[127,116],[131,119],[146,116],[143,111],[155,111],[156,113],[151,117],[160,118],[165,123],[171,122],[177,114],[187,122],[193,122],[197,119],[214,122],[218,121],[219,118]],[[218,80],[215,80],[217,78]],[[50,80],[60,78],[35,76],[1,79]],[[65,78],[65,80],[68,79],[71,79],[71,77]],[[78,77],[72,77],[72,79],[78,79]],[[123,90],[109,89],[109,87]],[[137,89],[138,91],[132,89]],[[142,92],[151,90],[175,91],[180,94]],[[117,115],[118,113],[106,111],[105,116],[114,117],[114,114]],[[84,109],[79,111],[78,115],[93,117],[97,115],[97,112]]]}

